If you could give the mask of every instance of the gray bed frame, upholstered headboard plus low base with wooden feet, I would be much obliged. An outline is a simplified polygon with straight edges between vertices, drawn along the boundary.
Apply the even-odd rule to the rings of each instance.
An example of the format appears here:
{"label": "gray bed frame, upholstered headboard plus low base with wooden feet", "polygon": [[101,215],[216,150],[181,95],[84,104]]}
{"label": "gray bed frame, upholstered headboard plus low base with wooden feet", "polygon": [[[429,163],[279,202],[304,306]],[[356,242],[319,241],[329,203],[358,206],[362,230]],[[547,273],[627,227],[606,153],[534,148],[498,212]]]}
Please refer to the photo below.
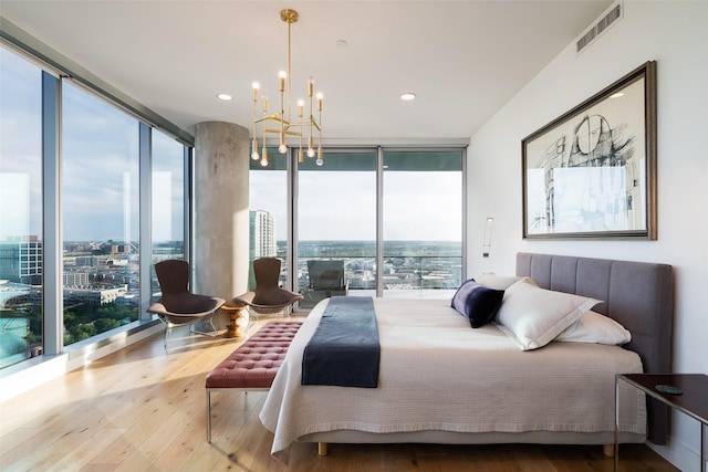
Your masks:
{"label": "gray bed frame, upholstered headboard plus low base with wooden feet", "polygon": [[[674,317],[673,268],[667,264],[628,262],[605,259],[518,253],[518,276],[531,276],[539,286],[603,300],[593,310],[607,315],[632,333],[624,347],[636,352],[644,370],[669,373],[671,326]],[[668,409],[647,398],[647,439],[665,444],[668,434]],[[560,439],[560,442],[559,442]],[[435,442],[435,443],[566,443],[604,444],[612,455],[606,437],[592,433],[530,431],[519,433],[457,433],[449,431],[413,431],[376,434],[337,430],[311,433],[299,441],[319,442],[320,454],[326,454],[327,443],[355,442]],[[598,442],[601,441],[601,442]],[[621,438],[621,442],[624,442]],[[634,439],[629,442],[636,442]]]}

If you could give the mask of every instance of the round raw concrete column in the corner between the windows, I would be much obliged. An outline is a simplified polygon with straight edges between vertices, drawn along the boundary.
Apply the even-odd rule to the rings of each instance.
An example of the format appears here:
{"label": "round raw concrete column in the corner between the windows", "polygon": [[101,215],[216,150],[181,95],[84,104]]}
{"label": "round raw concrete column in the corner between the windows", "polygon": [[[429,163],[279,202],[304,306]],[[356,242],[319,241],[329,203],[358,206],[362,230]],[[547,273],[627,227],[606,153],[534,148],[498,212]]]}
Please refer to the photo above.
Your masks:
{"label": "round raw concrete column in the corner between the windows", "polygon": [[195,292],[227,302],[248,290],[249,145],[249,132],[242,126],[197,124]]}

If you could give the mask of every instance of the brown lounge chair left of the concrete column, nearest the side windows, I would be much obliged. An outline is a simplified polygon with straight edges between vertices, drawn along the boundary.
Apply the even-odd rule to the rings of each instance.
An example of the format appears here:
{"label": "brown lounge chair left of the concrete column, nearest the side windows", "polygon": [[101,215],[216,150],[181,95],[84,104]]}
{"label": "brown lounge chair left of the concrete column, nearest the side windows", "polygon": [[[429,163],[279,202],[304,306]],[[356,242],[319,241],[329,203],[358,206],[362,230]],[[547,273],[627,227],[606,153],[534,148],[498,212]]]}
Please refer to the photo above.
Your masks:
{"label": "brown lounge chair left of the concrete column, nearest the side windows", "polygon": [[[189,292],[189,263],[187,261],[167,260],[155,264],[155,273],[163,292],[157,302],[147,308],[166,325],[165,348],[167,337],[175,326],[189,325],[189,333],[216,336],[214,314],[223,303],[223,298],[199,295]],[[196,331],[199,322],[209,323],[211,332]]]}

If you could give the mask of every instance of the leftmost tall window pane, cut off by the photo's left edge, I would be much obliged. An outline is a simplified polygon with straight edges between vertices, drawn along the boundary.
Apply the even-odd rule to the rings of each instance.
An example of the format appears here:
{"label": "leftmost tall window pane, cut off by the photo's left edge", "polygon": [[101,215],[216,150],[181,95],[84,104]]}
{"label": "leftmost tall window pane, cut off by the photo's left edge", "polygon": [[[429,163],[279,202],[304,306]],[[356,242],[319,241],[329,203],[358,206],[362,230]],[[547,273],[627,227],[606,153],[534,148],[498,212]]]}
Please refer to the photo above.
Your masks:
{"label": "leftmost tall window pane, cut off by the photo's left edge", "polygon": [[43,348],[41,76],[0,48],[0,368]]}

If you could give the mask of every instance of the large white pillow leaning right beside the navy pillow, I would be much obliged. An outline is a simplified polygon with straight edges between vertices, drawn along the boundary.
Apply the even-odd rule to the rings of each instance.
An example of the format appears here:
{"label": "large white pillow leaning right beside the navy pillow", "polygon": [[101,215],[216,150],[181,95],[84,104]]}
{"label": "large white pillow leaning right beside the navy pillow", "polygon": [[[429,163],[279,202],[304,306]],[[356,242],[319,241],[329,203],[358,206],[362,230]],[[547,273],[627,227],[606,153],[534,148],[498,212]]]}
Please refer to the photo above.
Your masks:
{"label": "large white pillow leaning right beside the navy pillow", "polygon": [[523,277],[504,292],[497,323],[521,350],[538,349],[598,303],[586,296],[540,289]]}

